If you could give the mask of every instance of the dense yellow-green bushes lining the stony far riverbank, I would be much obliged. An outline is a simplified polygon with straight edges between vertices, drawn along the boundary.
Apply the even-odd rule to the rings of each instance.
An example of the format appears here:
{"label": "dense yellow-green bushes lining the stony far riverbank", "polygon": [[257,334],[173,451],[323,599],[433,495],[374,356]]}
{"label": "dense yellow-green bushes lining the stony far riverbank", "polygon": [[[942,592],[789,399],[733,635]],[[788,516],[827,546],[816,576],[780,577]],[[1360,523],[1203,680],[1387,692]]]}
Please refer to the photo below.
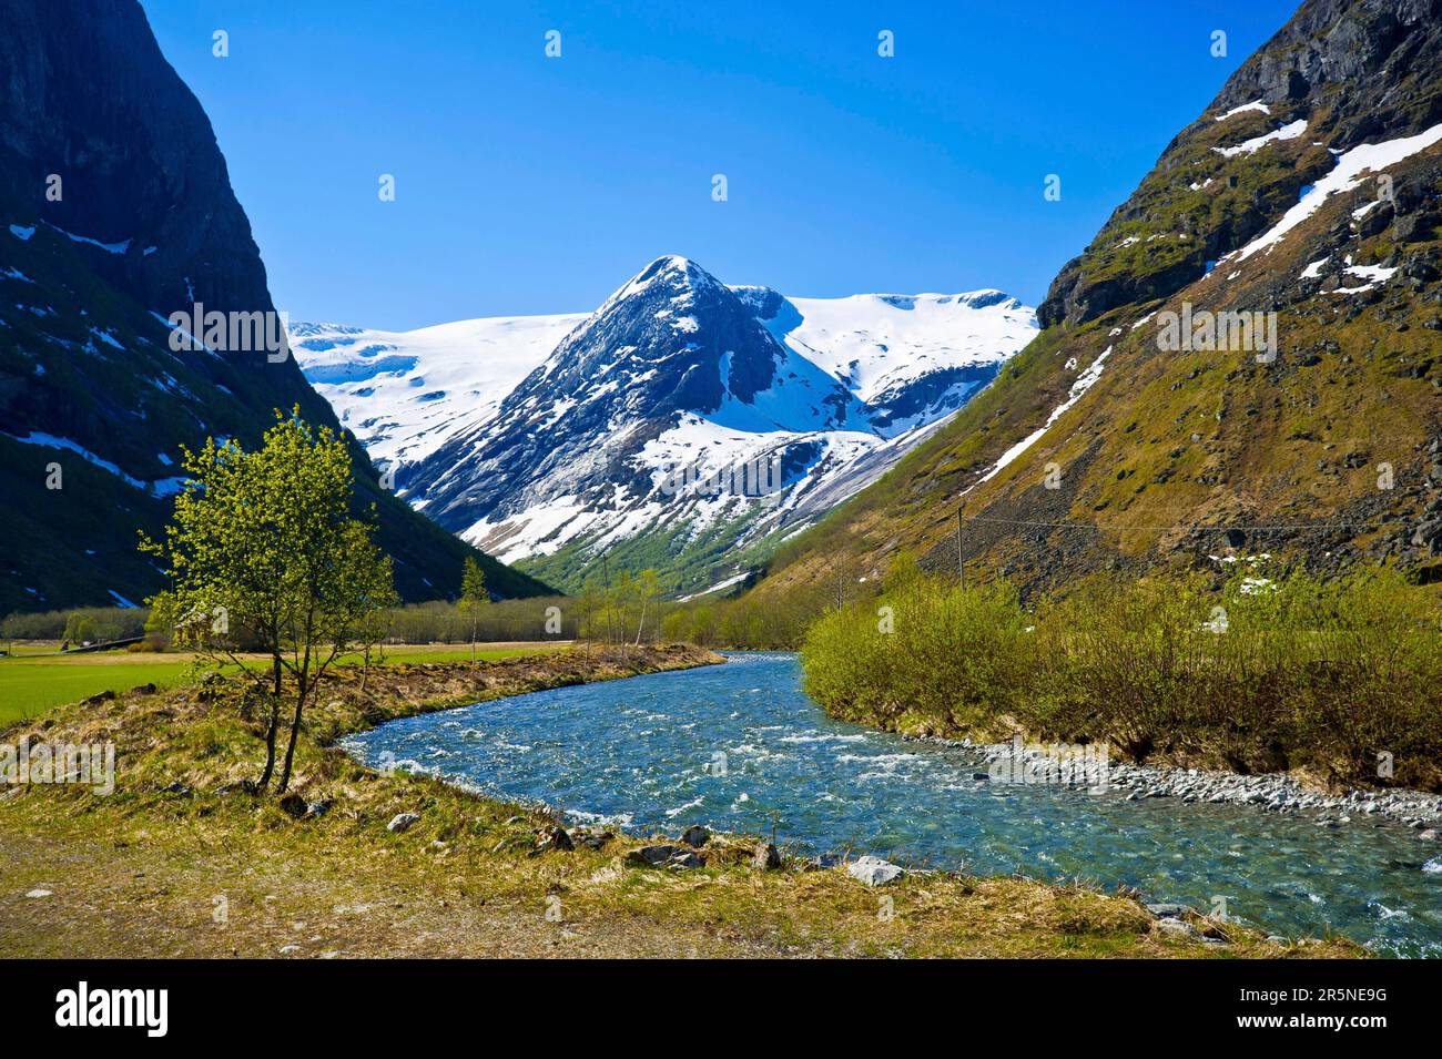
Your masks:
{"label": "dense yellow-green bushes lining the stony far riverbank", "polygon": [[911,576],[819,618],[802,664],[829,712],[898,730],[1442,787],[1438,609],[1389,571],[1093,578],[1034,617],[1005,584]]}

